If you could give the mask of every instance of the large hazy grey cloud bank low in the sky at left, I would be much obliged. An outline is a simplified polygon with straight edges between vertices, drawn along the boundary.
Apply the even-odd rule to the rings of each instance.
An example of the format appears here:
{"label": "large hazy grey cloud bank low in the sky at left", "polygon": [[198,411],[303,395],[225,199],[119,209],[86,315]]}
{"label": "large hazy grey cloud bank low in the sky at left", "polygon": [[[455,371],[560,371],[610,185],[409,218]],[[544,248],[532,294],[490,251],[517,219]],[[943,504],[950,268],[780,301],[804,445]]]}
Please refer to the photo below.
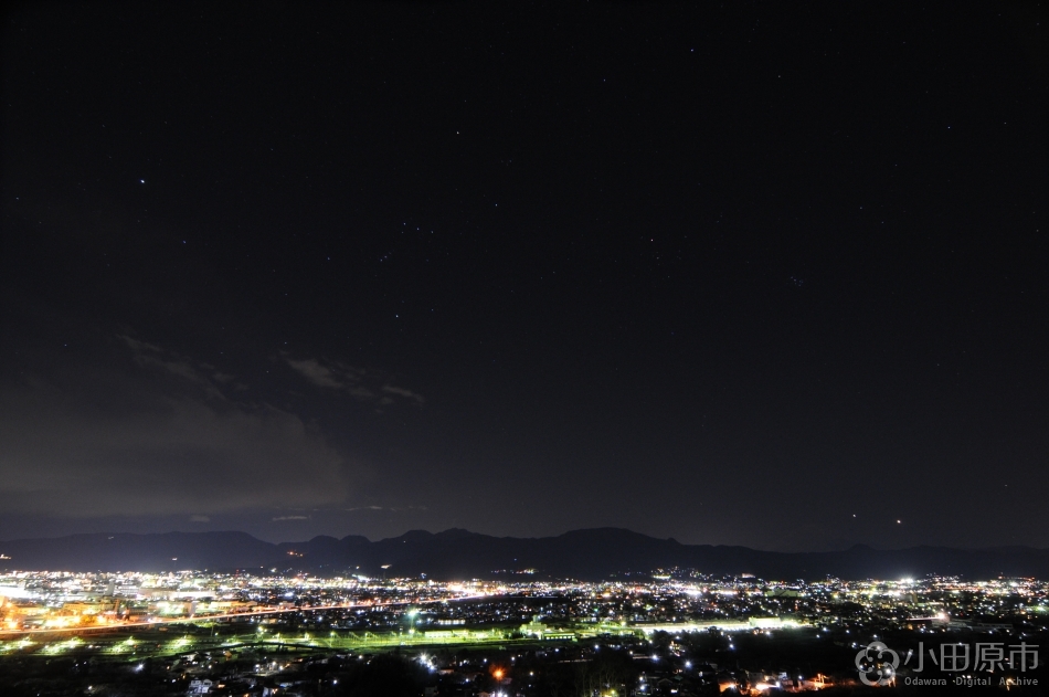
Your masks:
{"label": "large hazy grey cloud bank low in the sky at left", "polygon": [[95,369],[80,383],[29,379],[0,391],[0,496],[9,513],[184,514],[203,522],[347,496],[345,458],[300,416],[229,399],[195,361],[120,339],[133,351],[130,370]]}

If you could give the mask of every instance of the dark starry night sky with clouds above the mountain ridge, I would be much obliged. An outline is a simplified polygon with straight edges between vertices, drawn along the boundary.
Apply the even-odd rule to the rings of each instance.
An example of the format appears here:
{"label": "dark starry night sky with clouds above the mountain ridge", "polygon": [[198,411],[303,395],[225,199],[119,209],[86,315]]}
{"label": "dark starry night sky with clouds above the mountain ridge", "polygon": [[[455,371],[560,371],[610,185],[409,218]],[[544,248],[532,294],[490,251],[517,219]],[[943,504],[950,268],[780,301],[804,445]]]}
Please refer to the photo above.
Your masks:
{"label": "dark starry night sky with clouds above the mountain ridge", "polygon": [[30,3],[0,539],[1049,546],[1036,3]]}

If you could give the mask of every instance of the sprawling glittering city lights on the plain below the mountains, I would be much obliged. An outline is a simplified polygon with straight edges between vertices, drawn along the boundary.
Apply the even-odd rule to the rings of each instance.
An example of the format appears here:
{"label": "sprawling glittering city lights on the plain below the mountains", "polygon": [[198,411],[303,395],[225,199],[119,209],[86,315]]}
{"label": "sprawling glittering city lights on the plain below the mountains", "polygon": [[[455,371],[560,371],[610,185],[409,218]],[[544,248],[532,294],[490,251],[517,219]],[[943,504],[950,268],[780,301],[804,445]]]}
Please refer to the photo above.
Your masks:
{"label": "sprawling glittering city lights on the plain below the mountains", "polygon": [[889,636],[1029,640],[1046,632],[1047,608],[1049,584],[1005,578],[804,582],[659,569],[629,580],[509,583],[23,571],[0,577],[0,668],[6,657],[67,656],[126,662],[137,674],[165,665],[191,680],[236,664],[244,679],[287,689],[316,662],[349,669],[348,661],[370,665],[396,651],[433,680],[468,678],[489,695],[538,695],[555,666],[603,661],[625,661],[639,675],[632,693],[595,684],[595,695],[670,694],[666,680],[799,691],[848,678],[833,665],[801,677],[794,666],[750,678],[725,670],[751,661],[761,642],[792,636],[840,652],[844,669]]}

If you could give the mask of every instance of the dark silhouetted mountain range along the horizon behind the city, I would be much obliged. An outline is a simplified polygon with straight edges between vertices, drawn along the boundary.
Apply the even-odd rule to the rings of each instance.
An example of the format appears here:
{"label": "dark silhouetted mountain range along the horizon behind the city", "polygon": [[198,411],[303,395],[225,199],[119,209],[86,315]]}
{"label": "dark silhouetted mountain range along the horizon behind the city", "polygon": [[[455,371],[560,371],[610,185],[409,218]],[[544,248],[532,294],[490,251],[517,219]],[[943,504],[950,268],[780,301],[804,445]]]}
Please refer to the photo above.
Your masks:
{"label": "dark silhouetted mountain range along the horizon behind the city", "polygon": [[836,552],[770,552],[746,547],[681,545],[618,528],[574,530],[557,537],[491,537],[462,529],[412,530],[372,542],[360,536],[315,537],[278,545],[246,532],[71,535],[0,542],[0,570],[248,572],[417,577],[441,580],[580,580],[650,578],[679,567],[710,574],[752,573],[763,579],[919,578],[935,573],[969,579],[1049,579],[1049,550],[1030,547],[876,550],[857,545]]}

